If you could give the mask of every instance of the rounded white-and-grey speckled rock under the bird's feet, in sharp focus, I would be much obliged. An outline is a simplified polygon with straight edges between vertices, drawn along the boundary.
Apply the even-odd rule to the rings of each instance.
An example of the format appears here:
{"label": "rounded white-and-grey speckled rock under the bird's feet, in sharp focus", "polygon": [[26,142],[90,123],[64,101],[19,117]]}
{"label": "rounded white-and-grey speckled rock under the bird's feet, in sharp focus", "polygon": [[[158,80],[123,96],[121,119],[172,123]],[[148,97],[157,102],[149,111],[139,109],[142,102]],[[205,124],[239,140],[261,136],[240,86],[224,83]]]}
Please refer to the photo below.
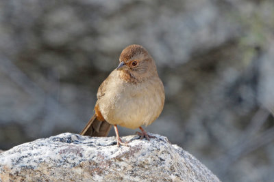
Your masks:
{"label": "rounded white-and-grey speckled rock under the bird's feet, in sharp focus", "polygon": [[190,153],[157,134],[150,141],[64,133],[0,154],[0,181],[219,181]]}

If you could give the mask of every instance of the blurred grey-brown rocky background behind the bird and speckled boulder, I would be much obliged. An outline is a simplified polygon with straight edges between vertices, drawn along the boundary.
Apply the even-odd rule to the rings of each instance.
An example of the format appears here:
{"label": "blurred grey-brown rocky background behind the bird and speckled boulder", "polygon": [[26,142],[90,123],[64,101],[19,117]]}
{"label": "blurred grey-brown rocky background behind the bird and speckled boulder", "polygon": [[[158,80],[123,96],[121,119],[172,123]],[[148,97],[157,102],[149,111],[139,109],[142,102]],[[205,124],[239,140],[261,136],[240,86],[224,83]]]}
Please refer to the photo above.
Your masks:
{"label": "blurred grey-brown rocky background behind the bird and speckled boulder", "polygon": [[273,181],[273,30],[273,0],[1,0],[0,149],[79,133],[121,50],[141,44],[166,91],[147,131],[222,181]]}

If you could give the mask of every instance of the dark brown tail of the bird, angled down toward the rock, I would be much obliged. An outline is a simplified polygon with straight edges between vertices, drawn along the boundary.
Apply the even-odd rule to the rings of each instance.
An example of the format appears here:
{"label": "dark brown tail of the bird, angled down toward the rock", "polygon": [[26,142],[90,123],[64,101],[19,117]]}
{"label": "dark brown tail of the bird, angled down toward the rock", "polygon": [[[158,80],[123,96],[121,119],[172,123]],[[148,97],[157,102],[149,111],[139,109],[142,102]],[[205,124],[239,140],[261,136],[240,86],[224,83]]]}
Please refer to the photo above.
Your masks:
{"label": "dark brown tail of the bird, angled down toward the rock", "polygon": [[99,121],[96,115],[93,115],[80,134],[85,136],[108,136],[111,127],[110,123]]}

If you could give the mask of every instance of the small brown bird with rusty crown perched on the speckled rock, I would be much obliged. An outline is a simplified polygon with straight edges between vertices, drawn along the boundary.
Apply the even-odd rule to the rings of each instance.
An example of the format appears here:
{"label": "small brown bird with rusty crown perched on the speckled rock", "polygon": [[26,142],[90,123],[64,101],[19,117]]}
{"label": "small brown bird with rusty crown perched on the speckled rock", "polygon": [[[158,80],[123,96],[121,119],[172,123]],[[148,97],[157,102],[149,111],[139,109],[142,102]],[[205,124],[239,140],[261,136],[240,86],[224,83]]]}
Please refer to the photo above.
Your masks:
{"label": "small brown bird with rusty crown perched on the speckled rock", "polygon": [[140,45],[127,46],[121,53],[118,67],[100,85],[95,115],[80,134],[108,136],[114,125],[117,145],[121,141],[117,125],[131,129],[141,138],[149,136],[141,125],[150,125],[164,107],[164,86],[151,55]]}

